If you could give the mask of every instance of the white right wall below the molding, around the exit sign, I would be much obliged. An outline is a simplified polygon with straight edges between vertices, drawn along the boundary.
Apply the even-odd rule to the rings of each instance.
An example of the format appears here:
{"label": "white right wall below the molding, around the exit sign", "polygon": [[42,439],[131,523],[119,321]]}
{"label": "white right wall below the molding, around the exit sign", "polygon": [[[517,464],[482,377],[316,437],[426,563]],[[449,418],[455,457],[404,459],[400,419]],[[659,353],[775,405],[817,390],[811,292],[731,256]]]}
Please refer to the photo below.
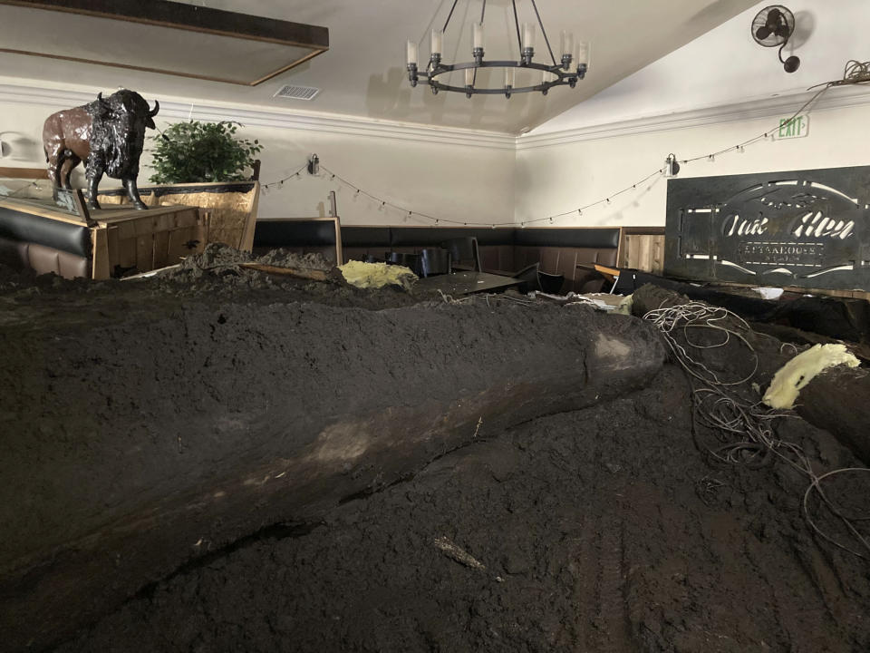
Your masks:
{"label": "white right wall below the molding, around the exit sign", "polygon": [[[799,106],[799,104],[797,105]],[[797,108],[797,107],[796,107]],[[788,117],[788,112],[783,112]],[[682,166],[681,177],[870,165],[870,105],[810,114],[806,138],[760,141],[742,153]],[[679,159],[723,150],[770,130],[776,119],[632,133],[517,151],[517,222],[541,219],[601,200]],[[663,225],[667,180],[656,175],[610,205],[555,219],[560,226]],[[544,221],[538,224],[549,224]]]}

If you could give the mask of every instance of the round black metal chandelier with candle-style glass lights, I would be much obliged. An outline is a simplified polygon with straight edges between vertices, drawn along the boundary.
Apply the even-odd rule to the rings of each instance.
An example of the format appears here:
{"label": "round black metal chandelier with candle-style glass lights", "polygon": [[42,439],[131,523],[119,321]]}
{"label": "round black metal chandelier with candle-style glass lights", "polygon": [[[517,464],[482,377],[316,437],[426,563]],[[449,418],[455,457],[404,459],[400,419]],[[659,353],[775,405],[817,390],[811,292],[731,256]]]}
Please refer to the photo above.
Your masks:
{"label": "round black metal chandelier with candle-style glass lights", "polygon": [[[453,0],[453,6],[450,7],[450,13],[447,16],[444,27],[432,30],[430,59],[426,70],[422,73],[420,73],[418,68],[417,44],[413,41],[408,41],[408,79],[411,81],[411,86],[416,86],[417,83],[428,83],[432,93],[452,91],[455,93],[465,93],[469,98],[472,95],[478,94],[504,94],[505,97],[509,98],[513,93],[531,93],[536,91],[546,95],[547,91],[554,86],[570,86],[574,88],[577,80],[585,77],[586,70],[589,67],[589,45],[583,42],[577,42],[575,45],[573,34],[563,31],[561,61],[556,62],[556,55],[553,54],[553,48],[550,45],[549,38],[547,38],[544,23],[541,21],[541,15],[537,10],[535,0],[531,0],[532,7],[535,9],[537,24],[541,28],[541,34],[544,36],[544,43],[549,51],[550,59],[553,62],[552,65],[533,61],[535,56],[536,25],[535,23],[525,23],[522,26],[522,30],[520,30],[519,17],[517,15],[517,0],[511,0],[511,5],[513,5],[514,10],[514,24],[517,27],[517,45],[520,52],[519,61],[484,61],[483,19],[487,12],[487,0],[483,0],[483,6],[480,9],[480,22],[472,24],[473,44],[471,55],[474,60],[466,63],[443,63],[441,61],[441,51],[444,43],[444,33],[447,31],[450,18],[453,17],[453,11],[458,3],[459,0]],[[504,85],[500,88],[478,87],[478,68],[504,68]],[[517,68],[541,71],[541,83],[515,87],[514,81],[516,79],[515,73]],[[438,77],[442,74],[460,70],[465,71],[464,86],[453,86],[438,80]]]}

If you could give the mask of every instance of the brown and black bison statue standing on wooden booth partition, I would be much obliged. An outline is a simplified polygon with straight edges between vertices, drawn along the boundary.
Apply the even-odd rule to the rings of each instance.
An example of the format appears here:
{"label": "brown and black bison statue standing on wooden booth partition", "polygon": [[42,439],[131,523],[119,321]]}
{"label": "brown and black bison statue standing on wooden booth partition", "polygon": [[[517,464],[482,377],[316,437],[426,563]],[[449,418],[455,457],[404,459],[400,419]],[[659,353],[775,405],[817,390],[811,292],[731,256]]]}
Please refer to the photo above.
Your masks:
{"label": "brown and black bison statue standing on wooden booth partition", "polygon": [[88,206],[100,209],[97,189],[104,174],[121,180],[134,207],[147,209],[136,177],[145,143],[145,128],[155,129],[151,109],[139,93],[123,89],[74,109],[53,113],[43,125],[43,149],[54,188],[70,188],[73,168],[84,161]]}

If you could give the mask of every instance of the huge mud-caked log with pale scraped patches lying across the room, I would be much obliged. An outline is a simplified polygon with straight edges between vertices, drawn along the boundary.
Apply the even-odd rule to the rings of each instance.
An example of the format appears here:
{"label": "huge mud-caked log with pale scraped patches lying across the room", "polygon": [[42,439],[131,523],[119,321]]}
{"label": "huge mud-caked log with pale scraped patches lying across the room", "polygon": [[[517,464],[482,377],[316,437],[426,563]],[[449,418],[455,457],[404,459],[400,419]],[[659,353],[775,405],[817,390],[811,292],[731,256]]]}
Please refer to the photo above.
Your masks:
{"label": "huge mud-caked log with pale scraped patches lying across the room", "polygon": [[[588,308],[374,311],[163,283],[0,298],[9,649],[68,637],[188,560],[320,518],[478,436],[642,386],[664,359],[652,327]],[[347,293],[336,304],[396,297],[321,287]]]}

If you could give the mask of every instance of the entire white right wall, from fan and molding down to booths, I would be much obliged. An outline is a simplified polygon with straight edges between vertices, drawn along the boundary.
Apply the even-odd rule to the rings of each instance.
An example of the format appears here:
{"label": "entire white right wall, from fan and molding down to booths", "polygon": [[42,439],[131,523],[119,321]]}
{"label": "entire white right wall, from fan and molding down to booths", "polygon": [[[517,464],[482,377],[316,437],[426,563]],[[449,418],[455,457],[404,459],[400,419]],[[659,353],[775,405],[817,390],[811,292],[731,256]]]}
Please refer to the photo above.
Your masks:
{"label": "entire white right wall, from fan and molding down to booths", "polygon": [[[679,159],[718,151],[771,130],[807,100],[807,87],[839,79],[846,61],[870,58],[867,0],[793,0],[796,35],[784,56],[751,38],[759,3],[708,34],[517,139],[516,221],[574,210]],[[868,87],[831,89],[810,113],[807,138],[766,141],[743,153],[683,166],[681,177],[870,165]],[[663,225],[667,180],[653,177],[610,205],[556,225]]]}

